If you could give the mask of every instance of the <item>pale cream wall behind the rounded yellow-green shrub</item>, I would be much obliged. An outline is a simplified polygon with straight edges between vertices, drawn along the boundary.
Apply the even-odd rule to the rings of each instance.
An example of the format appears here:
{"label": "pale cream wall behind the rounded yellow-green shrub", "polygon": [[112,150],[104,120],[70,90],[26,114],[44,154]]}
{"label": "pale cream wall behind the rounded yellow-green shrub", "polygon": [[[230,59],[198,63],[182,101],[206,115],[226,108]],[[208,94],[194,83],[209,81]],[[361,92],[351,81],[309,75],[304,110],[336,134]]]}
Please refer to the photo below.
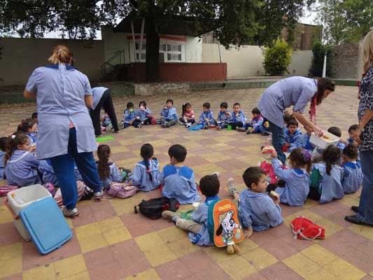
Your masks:
{"label": "pale cream wall behind the rounded yellow-green shrub", "polygon": [[[222,62],[227,63],[227,78],[265,76],[262,49],[256,45],[244,45],[240,49],[229,50],[220,45],[220,55]],[[307,76],[311,59],[311,50],[293,52],[292,62],[288,67],[290,75]],[[202,62],[220,62],[218,44],[203,44]]]}

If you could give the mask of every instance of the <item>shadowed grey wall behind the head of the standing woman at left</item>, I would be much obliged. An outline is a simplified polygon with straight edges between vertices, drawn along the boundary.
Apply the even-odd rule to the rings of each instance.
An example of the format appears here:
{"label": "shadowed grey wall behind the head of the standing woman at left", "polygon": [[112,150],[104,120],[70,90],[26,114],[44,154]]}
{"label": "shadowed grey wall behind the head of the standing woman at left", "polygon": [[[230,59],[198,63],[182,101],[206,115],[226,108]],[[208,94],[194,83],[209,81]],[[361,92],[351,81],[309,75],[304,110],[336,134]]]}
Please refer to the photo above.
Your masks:
{"label": "shadowed grey wall behind the head of the standing woman at left", "polygon": [[90,80],[101,78],[104,43],[99,40],[65,40],[50,38],[1,38],[0,87],[24,86],[32,71],[49,64],[55,45],[66,45],[73,52],[74,66]]}

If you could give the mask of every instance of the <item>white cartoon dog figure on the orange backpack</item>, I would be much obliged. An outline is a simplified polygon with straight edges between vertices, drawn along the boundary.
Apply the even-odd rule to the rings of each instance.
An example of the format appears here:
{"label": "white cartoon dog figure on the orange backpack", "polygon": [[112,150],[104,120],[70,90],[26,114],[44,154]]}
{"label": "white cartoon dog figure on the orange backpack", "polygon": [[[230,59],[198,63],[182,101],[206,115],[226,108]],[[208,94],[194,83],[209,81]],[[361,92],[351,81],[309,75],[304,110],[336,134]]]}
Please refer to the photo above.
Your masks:
{"label": "white cartoon dog figure on the orange backpack", "polygon": [[222,236],[224,244],[227,245],[227,252],[234,253],[238,251],[238,246],[234,243],[234,230],[241,228],[239,224],[234,221],[234,211],[230,210],[219,216],[219,228],[216,230],[216,235]]}

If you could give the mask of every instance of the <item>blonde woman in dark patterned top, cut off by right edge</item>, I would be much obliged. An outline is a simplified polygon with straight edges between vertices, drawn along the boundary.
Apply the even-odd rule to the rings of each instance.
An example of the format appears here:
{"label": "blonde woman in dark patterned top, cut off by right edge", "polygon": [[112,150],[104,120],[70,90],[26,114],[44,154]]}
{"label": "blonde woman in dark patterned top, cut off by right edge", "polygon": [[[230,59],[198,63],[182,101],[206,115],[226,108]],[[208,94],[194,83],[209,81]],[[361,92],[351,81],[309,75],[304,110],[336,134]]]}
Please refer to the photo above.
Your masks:
{"label": "blonde woman in dark patterned top, cut off by right edge", "polygon": [[346,216],[346,221],[358,225],[373,226],[373,30],[363,41],[365,76],[360,83],[360,104],[358,109],[359,128],[354,140],[359,144],[363,190],[355,216]]}

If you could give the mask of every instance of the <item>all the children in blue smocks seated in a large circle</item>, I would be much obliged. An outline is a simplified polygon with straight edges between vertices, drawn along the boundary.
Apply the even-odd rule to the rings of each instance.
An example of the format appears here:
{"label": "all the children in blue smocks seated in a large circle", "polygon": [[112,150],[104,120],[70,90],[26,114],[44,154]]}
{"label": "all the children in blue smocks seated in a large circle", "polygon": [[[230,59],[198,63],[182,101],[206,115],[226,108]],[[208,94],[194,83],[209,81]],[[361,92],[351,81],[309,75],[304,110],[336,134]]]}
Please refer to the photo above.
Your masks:
{"label": "all the children in blue smocks seated in a large circle", "polygon": [[[234,128],[244,127],[252,133],[267,132],[264,120],[258,109],[253,109],[253,119],[247,123],[239,104],[234,104],[232,113],[227,111],[227,104],[220,104],[217,120],[214,120],[210,104],[205,103],[199,120],[190,104],[183,104],[183,116],[178,119],[176,109],[171,99],[161,112],[159,123],[163,127],[175,125],[178,120],[186,125],[199,123],[204,127],[221,130],[228,125]],[[139,110],[134,111],[129,102],[125,110],[124,126],[148,125],[154,123],[153,116],[146,108],[146,102],[140,102]],[[250,128],[251,127],[251,128]],[[356,125],[349,128],[350,137]],[[306,128],[307,130],[307,128]],[[37,114],[23,120],[18,131],[10,137],[0,138],[0,175],[8,180],[8,184],[30,186],[35,183],[52,183],[58,186],[57,178],[49,160],[36,160],[34,155],[37,145]],[[330,127],[328,132],[341,137],[338,127]],[[246,190],[238,193],[233,179],[227,181],[228,193],[232,196],[239,209],[242,224],[248,229],[248,235],[254,231],[267,230],[283,223],[280,203],[289,206],[302,206],[307,198],[320,203],[340,199],[346,193],[355,193],[361,186],[363,174],[358,160],[358,148],[350,138],[341,140],[337,145],[330,145],[325,150],[312,146],[309,142],[309,131],[302,134],[297,121],[287,120],[284,130],[286,145],[284,151],[289,152],[288,165],[283,165],[277,159],[277,154],[271,152],[271,165],[276,176],[276,183],[268,184],[267,171],[260,167],[248,167],[243,174]],[[190,167],[183,165],[187,150],[176,144],[169,148],[169,165],[160,170],[159,162],[154,158],[154,148],[150,144],[141,146],[139,161],[134,172],[117,167],[110,161],[111,151],[108,145],[100,145],[97,149],[97,169],[103,188],[110,188],[112,183],[127,182],[141,191],[151,191],[160,188],[162,196],[176,198],[180,204],[192,204],[202,198],[199,190],[206,197],[192,214],[192,223],[181,218],[180,214],[164,211],[162,216],[174,221],[176,226],[190,232],[190,241],[198,245],[212,245],[206,228],[209,202],[220,200],[218,197],[220,174],[204,176],[195,181],[195,174]],[[82,180],[76,169],[76,180]]]}

